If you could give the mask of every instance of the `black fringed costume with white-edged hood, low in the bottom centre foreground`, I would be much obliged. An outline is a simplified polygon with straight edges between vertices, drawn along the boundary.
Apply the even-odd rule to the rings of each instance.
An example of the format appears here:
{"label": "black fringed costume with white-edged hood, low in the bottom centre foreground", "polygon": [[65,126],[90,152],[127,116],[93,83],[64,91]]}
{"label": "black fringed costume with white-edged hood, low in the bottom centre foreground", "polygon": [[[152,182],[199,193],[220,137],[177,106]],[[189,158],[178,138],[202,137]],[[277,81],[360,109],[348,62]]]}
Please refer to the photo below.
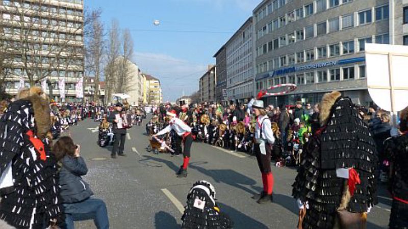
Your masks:
{"label": "black fringed costume with white-edged hood, low in the bottom centre foreground", "polygon": [[219,211],[215,203],[214,187],[207,181],[198,181],[190,189],[182,220],[183,229],[233,227],[230,217]]}

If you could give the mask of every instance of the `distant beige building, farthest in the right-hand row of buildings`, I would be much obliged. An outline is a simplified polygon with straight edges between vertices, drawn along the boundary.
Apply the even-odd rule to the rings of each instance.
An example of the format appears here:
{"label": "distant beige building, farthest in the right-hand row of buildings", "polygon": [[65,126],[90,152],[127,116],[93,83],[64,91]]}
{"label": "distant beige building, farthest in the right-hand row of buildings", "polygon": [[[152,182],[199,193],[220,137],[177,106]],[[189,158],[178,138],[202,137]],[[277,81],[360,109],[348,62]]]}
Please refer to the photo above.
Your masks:
{"label": "distant beige building, farthest in the right-hand row of buildings", "polygon": [[215,89],[217,82],[217,67],[208,66],[208,71],[203,74],[199,80],[198,88],[200,93],[200,102],[215,102]]}

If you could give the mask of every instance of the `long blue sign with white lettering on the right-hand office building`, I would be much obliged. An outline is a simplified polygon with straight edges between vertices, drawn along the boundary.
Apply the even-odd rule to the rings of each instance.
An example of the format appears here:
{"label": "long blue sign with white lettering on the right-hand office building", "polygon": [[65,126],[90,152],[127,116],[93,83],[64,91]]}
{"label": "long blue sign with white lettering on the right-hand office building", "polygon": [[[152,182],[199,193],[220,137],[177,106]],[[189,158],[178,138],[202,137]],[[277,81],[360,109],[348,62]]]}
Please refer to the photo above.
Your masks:
{"label": "long blue sign with white lettering on the right-hand office building", "polygon": [[324,67],[330,67],[330,66],[336,66],[336,65],[345,65],[345,64],[364,62],[364,61],[366,61],[366,58],[363,56],[359,58],[350,58],[350,59],[344,59],[340,61],[326,61],[326,62],[310,64],[310,65],[303,65],[303,66],[298,66],[298,67],[292,66],[288,68],[277,69],[275,71],[259,75],[255,79],[260,80],[264,78],[273,77],[276,75],[285,75],[291,72],[300,72],[300,71],[305,71],[309,69],[324,68]]}

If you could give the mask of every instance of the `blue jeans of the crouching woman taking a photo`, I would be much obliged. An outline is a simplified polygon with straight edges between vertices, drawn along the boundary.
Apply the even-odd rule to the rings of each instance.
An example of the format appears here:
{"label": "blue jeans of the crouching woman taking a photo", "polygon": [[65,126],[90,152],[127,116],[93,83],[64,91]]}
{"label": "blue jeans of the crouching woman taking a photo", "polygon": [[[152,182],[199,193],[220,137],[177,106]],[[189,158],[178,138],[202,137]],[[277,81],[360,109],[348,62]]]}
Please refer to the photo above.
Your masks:
{"label": "blue jeans of the crouching woman taking a photo", "polygon": [[96,198],[88,198],[85,201],[64,204],[66,229],[74,229],[74,221],[93,219],[96,228],[108,229],[108,211],[104,201]]}

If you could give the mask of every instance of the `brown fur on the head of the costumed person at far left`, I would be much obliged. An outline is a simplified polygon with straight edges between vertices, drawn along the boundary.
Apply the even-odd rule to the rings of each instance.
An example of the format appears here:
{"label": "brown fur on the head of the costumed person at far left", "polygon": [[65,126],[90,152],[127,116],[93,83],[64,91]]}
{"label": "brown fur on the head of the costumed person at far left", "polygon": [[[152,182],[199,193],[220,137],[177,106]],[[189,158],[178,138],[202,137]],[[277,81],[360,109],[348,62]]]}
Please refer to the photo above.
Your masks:
{"label": "brown fur on the head of the costumed person at far left", "polygon": [[40,87],[32,87],[30,89],[21,90],[17,95],[17,99],[28,100],[32,103],[35,126],[37,129],[36,135],[41,140],[44,139],[51,127],[48,96]]}

